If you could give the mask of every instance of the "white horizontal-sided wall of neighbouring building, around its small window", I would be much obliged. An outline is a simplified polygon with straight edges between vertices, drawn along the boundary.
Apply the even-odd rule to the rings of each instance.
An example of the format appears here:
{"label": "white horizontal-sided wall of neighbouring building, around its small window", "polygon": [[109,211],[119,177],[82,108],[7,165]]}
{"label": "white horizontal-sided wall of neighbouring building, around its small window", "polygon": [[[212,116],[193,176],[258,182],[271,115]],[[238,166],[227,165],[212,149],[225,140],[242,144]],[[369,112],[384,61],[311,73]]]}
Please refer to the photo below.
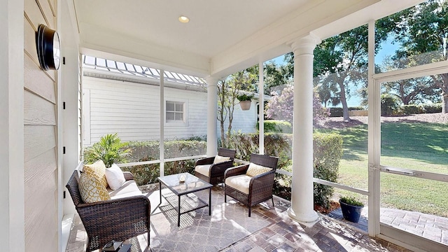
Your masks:
{"label": "white horizontal-sided wall of neighbouring building, around its small window", "polygon": [[[158,85],[84,76],[83,90],[84,146],[96,143],[104,134],[114,133],[122,141],[160,139]],[[165,123],[165,139],[207,135],[207,92],[165,87],[164,99],[186,103],[186,123]],[[241,111],[237,105],[232,129],[255,132],[255,111],[254,102],[249,111]],[[218,123],[218,137],[219,132]]]}

